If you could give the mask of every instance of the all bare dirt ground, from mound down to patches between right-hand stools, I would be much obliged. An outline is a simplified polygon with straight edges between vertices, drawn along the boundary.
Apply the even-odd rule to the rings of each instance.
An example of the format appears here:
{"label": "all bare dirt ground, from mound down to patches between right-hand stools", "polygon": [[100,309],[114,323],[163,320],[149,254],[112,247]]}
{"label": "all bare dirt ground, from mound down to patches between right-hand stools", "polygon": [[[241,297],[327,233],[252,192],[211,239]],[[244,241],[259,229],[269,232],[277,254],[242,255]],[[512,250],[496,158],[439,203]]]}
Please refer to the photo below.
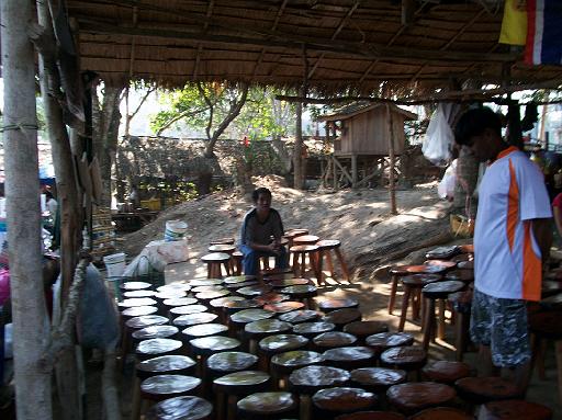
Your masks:
{"label": "all bare dirt ground, from mound down to patches between right-hand stools", "polygon": [[[328,279],[329,285],[319,288],[322,297],[352,297],[359,300],[363,319],[384,320],[396,330],[401,310],[398,292],[394,315],[386,310],[390,294],[387,266],[393,263],[420,263],[427,250],[443,243],[463,243],[450,234],[448,203],[438,198],[437,184],[416,185],[396,192],[398,215],[390,214],[386,190],[296,191],[286,188],[282,179],[254,179],[257,186],[273,192],[272,206],[285,226],[307,228],[323,239],[341,240],[341,250],[352,271],[351,283]],[[216,238],[237,238],[245,213],[251,208],[249,196],[224,191],[194,202],[188,202],[162,212],[157,220],[144,229],[124,237],[123,250],[131,257],[144,245],[164,236],[166,220],[182,219],[189,225],[190,259],[168,265],[166,281],[206,275],[200,257],[206,253],[209,242]],[[418,323],[407,322],[405,331],[420,340]],[[558,399],[557,371],[553,349],[547,353],[547,379],[533,375],[528,400],[551,407],[555,419],[562,419]],[[452,328],[448,327],[445,341],[430,348],[430,359],[453,360]],[[465,361],[475,367],[475,353],[467,353]]]}

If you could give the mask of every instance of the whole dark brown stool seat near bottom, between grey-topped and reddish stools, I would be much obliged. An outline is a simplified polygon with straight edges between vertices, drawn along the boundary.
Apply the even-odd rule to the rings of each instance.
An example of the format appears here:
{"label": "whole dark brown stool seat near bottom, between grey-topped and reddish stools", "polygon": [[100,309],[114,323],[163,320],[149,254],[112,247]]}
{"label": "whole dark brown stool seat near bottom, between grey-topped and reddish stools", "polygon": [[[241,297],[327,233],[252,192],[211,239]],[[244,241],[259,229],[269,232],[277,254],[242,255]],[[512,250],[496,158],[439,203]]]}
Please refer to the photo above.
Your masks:
{"label": "whole dark brown stool seat near bottom, between grey-topped and reddish stools", "polygon": [[456,396],[454,388],[434,382],[393,385],[386,391],[389,402],[406,415],[449,405]]}

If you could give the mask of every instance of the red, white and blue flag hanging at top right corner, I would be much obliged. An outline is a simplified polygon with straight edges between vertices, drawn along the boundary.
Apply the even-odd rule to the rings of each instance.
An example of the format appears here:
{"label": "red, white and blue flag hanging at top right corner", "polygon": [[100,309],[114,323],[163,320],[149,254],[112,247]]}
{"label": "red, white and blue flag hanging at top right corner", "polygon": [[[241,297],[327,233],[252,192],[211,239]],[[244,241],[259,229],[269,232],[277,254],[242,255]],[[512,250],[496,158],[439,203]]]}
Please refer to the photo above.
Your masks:
{"label": "red, white and blue flag hanging at top right corner", "polygon": [[562,1],[527,0],[525,63],[562,65]]}

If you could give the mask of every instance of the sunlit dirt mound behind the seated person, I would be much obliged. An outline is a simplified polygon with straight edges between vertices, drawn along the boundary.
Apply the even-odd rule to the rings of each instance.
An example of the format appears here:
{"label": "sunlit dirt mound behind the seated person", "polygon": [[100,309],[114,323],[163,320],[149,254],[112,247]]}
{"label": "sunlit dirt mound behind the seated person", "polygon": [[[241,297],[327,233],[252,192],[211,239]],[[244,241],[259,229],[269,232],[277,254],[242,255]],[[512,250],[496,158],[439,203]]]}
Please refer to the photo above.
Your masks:
{"label": "sunlit dirt mound behind the seated person", "polygon": [[[370,276],[375,266],[424,246],[450,240],[448,204],[438,198],[436,183],[397,191],[397,216],[390,214],[384,189],[300,191],[276,175],[256,177],[252,183],[272,191],[272,206],[280,212],[285,229],[303,227],[322,238],[341,240],[358,276]],[[191,257],[199,258],[211,240],[237,238],[243,217],[251,207],[251,198],[234,190],[213,193],[160,213],[142,230],[125,236],[122,248],[133,257],[150,240],[164,237],[167,220],[181,219],[189,225]]]}

